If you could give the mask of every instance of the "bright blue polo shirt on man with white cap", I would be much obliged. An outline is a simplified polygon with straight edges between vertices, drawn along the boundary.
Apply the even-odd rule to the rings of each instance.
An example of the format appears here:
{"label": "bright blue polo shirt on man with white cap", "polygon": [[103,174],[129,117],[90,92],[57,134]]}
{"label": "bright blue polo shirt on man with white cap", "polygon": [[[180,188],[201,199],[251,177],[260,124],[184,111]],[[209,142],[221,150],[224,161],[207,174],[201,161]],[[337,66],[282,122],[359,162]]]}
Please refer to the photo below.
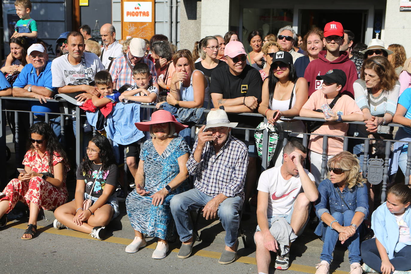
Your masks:
{"label": "bright blue polo shirt on man with white cap", "polygon": [[[37,76],[36,69],[33,67],[32,64],[26,64],[21,70],[20,74],[18,74],[16,81],[14,81],[13,87],[24,88],[26,85],[35,85],[38,87],[45,87],[46,89],[53,92],[51,97],[54,97],[56,88],[53,87],[51,83],[52,83],[51,61],[48,60],[46,66],[43,68],[42,72],[40,72],[39,76]],[[31,102],[31,111],[54,112],[54,113],[60,112],[58,108],[58,103],[53,102],[53,103],[40,104],[39,101]],[[35,113],[35,115],[44,116],[44,113]]]}

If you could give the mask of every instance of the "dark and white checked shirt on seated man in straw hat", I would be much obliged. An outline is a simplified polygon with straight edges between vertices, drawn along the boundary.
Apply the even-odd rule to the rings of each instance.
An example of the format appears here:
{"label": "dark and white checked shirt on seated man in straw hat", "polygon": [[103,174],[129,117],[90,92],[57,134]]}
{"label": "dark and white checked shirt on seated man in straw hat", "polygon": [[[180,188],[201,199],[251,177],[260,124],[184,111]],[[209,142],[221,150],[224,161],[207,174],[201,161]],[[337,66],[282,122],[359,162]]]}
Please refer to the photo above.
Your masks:
{"label": "dark and white checked shirt on seated man in straw hat", "polygon": [[194,187],[213,198],[222,193],[227,197],[240,196],[244,200],[248,166],[248,150],[245,144],[230,134],[216,154],[214,147],[207,142],[201,154],[201,161],[197,163],[194,159],[197,143],[198,140],[187,161],[190,175],[196,175]]}

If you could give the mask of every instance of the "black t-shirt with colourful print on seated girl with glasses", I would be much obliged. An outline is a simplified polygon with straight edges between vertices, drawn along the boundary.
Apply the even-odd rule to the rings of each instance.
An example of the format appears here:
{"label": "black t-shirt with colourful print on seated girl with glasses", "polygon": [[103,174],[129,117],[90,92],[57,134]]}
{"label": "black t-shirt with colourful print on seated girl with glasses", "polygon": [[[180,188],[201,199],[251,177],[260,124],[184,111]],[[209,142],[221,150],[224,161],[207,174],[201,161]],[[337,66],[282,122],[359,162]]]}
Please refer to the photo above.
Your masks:
{"label": "black t-shirt with colourful print on seated girl with glasses", "polygon": [[[104,186],[106,184],[111,184],[112,186],[117,185],[118,180],[118,167],[115,164],[109,166],[108,170],[100,170],[101,165],[92,164],[92,170],[89,174],[84,174],[81,171],[81,166],[77,168],[77,180],[84,180],[85,182],[85,192],[90,194],[91,187],[94,180],[97,177],[96,183],[94,184],[94,189],[91,193],[94,197],[100,197],[103,193]],[[97,174],[98,172],[98,174]]]}

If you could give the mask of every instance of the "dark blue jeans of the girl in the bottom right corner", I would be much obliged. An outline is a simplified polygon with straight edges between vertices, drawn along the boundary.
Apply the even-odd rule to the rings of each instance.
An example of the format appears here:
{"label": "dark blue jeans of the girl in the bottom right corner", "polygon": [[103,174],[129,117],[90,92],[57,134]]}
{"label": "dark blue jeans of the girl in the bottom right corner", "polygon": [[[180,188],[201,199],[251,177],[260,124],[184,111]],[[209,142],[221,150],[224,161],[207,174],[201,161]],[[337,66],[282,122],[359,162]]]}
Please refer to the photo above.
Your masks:
{"label": "dark blue jeans of the girl in the bottom right corner", "polygon": [[[381,258],[374,239],[369,239],[361,244],[361,258],[363,262],[381,273]],[[411,270],[411,246],[405,246],[399,252],[394,252],[394,258],[390,260],[395,270]],[[391,272],[393,274],[393,272]]]}

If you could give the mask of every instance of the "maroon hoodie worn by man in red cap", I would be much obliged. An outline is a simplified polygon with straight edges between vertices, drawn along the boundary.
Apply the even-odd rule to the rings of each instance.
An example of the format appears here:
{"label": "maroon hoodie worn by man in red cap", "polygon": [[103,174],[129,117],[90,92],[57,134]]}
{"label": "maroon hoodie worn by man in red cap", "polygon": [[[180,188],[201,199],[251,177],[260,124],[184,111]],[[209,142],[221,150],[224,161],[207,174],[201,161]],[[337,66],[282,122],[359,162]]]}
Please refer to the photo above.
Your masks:
{"label": "maroon hoodie worn by man in red cap", "polygon": [[309,62],[307,69],[305,69],[304,78],[308,82],[308,96],[321,88],[323,81],[316,80],[317,76],[326,74],[330,69],[341,69],[347,76],[347,82],[342,87],[342,92],[348,91],[351,93],[351,97],[354,97],[353,83],[358,79],[356,65],[350,60],[346,51],[340,51],[339,58],[334,61],[327,60],[326,54],[327,51],[320,51],[319,58]]}

